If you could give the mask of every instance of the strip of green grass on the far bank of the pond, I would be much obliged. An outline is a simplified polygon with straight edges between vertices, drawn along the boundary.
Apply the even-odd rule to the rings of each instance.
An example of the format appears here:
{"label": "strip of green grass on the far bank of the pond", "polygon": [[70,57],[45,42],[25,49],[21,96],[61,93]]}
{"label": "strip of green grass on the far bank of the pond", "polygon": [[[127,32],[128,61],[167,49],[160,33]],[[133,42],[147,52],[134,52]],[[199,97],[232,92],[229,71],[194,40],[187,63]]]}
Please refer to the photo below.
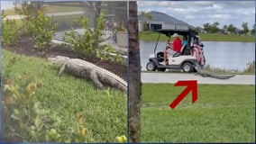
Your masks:
{"label": "strip of green grass on the far bank of the pond", "polygon": [[[158,39],[159,33],[157,32],[140,32],[140,40],[152,40]],[[202,41],[242,41],[242,42],[254,42],[254,36],[243,36],[243,35],[226,35],[220,33],[199,33]],[[168,37],[165,35],[160,36],[160,40],[167,41]],[[172,40],[172,39],[171,39]]]}

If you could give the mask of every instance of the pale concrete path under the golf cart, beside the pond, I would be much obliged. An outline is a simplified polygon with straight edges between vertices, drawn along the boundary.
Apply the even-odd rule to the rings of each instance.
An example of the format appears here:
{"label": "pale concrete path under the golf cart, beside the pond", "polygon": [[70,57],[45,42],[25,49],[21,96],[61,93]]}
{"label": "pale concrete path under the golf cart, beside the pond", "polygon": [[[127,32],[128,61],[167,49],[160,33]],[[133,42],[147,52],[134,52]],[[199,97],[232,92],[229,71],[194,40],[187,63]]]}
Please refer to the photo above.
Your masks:
{"label": "pale concrete path under the golf cart, beside the pond", "polygon": [[231,84],[231,85],[255,85],[254,75],[236,75],[230,79],[215,79],[210,77],[196,76],[196,74],[177,73],[143,73],[142,83],[172,83],[179,80],[197,80],[197,84]]}

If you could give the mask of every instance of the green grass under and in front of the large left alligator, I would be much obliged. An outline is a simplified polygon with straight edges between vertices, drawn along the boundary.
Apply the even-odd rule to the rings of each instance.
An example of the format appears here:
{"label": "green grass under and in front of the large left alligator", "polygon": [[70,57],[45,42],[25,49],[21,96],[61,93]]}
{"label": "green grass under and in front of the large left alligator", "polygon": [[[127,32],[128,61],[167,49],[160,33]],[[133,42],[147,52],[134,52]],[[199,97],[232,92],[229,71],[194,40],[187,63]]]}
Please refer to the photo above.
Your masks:
{"label": "green grass under and in front of the large left alligator", "polygon": [[116,136],[126,135],[126,94],[115,89],[98,90],[92,82],[66,73],[58,76],[59,68],[52,67],[46,59],[24,57],[5,49],[2,49],[2,74],[13,57],[15,63],[9,78],[27,74],[32,76],[32,82],[41,83],[35,96],[43,109],[50,111],[50,117],[59,117],[60,124],[55,129],[69,133],[69,127],[81,112],[89,135],[96,141],[113,142]]}

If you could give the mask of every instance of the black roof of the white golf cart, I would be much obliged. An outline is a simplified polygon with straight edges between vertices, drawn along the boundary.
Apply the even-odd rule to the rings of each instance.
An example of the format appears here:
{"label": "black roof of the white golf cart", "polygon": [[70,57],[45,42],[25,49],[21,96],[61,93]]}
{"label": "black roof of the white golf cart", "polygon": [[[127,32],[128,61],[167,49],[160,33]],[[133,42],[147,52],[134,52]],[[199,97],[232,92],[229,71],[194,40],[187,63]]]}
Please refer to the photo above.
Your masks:
{"label": "black roof of the white golf cart", "polygon": [[193,31],[191,29],[188,30],[173,30],[173,29],[160,29],[157,30],[157,32],[160,32],[162,34],[165,34],[166,36],[171,36],[174,33],[178,33],[178,35],[188,35],[189,37],[196,37],[196,35],[198,35],[197,31]]}

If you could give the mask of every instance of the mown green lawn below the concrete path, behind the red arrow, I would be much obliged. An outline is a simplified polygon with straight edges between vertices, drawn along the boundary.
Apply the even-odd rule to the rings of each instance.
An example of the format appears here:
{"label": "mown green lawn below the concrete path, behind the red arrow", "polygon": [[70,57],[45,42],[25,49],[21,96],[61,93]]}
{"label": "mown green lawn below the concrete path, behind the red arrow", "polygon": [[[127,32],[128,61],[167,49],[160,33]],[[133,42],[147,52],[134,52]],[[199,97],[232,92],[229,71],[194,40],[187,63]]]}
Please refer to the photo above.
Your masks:
{"label": "mown green lawn below the concrete path, behind the red arrow", "polygon": [[254,142],[255,86],[198,85],[172,110],[184,90],[172,84],[142,85],[143,142]]}

